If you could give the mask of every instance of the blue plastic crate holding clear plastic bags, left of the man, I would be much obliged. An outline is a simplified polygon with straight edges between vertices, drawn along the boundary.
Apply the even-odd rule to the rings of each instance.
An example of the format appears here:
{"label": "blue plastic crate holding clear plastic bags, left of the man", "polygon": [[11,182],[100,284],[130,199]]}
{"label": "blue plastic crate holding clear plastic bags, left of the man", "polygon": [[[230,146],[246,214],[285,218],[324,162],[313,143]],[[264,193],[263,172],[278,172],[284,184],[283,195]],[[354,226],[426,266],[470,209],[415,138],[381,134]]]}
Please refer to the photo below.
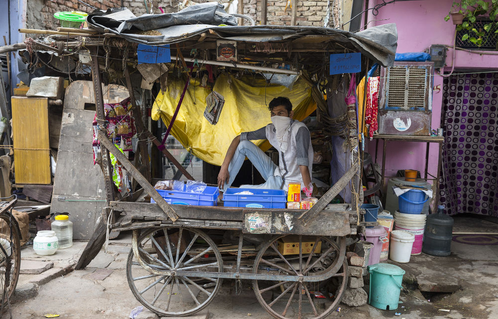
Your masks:
{"label": "blue plastic crate holding clear plastic bags, left of the man", "polygon": [[[183,190],[185,190],[185,185]],[[220,190],[218,187],[206,186],[206,189],[201,193],[187,193],[180,191],[165,191],[156,190],[159,195],[168,204],[173,205],[191,205],[191,206],[217,206],[218,205],[218,195],[220,195]],[[153,199],[150,199],[150,203],[155,203]]]}

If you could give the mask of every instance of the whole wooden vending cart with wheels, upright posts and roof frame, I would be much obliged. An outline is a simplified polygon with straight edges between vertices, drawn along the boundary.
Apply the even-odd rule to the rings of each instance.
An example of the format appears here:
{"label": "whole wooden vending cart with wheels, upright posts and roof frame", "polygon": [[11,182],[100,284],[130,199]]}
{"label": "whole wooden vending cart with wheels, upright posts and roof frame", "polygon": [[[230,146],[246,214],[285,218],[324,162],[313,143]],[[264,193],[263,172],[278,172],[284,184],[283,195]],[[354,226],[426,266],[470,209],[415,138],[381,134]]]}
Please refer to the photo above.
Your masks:
{"label": "whole wooden vending cart with wheels, upright posts and roof frame", "polygon": [[[264,32],[269,32],[267,27]],[[318,29],[319,32],[325,30]],[[301,53],[307,58],[310,51],[323,60],[324,54],[328,56],[329,52],[363,50],[357,46],[358,40],[353,39],[359,37],[348,38],[344,31],[339,31],[328,35],[303,33],[292,41],[281,38],[268,41],[281,46],[285,44],[288,47],[286,52],[273,53],[289,61],[298,59]],[[98,36],[100,40],[101,35]],[[211,32],[178,41],[184,42],[182,45],[186,49],[183,50],[191,50],[192,47],[216,48],[216,39],[216,33]],[[76,269],[86,267],[100,251],[108,227],[112,231],[131,229],[132,249],[126,267],[130,289],[140,303],[161,316],[187,316],[206,308],[220,290],[223,279],[251,280],[259,303],[275,318],[318,319],[334,311],[347,284],[346,236],[362,232],[362,227],[368,225],[362,221],[364,211],[358,209],[359,203],[363,202],[362,191],[358,190],[358,185],[361,185],[360,152],[356,153],[351,169],[308,211],[169,205],[150,184],[147,142],[155,146],[160,142],[144,128],[127,66],[124,67],[124,79],[139,140],[133,164],[106,135],[99,69],[100,44],[92,47],[87,38],[85,45],[90,48],[100,128],[98,138],[102,146],[100,165],[106,182],[108,206]],[[238,47],[254,52],[244,40]],[[129,52],[128,49],[123,51],[126,55]],[[185,65],[181,51],[177,45],[176,59],[181,59]],[[188,54],[188,51],[183,54]],[[371,53],[362,57],[362,74],[366,75],[369,64],[376,62],[371,57]],[[124,56],[125,59],[129,57]],[[273,61],[266,56],[261,59]],[[322,99],[323,106],[323,95],[318,90],[312,95],[315,100]],[[348,134],[353,131],[350,128],[347,128]],[[175,163],[164,147],[159,150]],[[129,197],[118,199],[111,179],[110,153],[156,203],[133,203]],[[145,166],[146,176],[138,169],[141,165]],[[185,171],[181,165],[177,167]],[[184,174],[190,176],[186,171]],[[355,193],[359,195],[355,203],[329,205],[355,175],[357,183],[352,184],[353,187],[356,185]],[[108,220],[114,219],[108,224]],[[238,244],[220,245],[221,233],[231,237],[228,239],[235,238]],[[294,250],[288,253],[283,251],[286,248]]]}

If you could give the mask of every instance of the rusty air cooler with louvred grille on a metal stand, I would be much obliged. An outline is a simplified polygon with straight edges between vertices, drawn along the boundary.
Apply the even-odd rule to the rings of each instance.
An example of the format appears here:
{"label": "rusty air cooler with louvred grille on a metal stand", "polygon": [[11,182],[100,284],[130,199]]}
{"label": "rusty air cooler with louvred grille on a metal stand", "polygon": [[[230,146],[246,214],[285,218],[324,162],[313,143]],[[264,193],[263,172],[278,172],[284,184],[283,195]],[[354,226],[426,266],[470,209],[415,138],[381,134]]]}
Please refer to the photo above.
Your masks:
{"label": "rusty air cooler with louvred grille on a metal stand", "polygon": [[382,69],[379,134],[430,136],[433,62],[394,62]]}

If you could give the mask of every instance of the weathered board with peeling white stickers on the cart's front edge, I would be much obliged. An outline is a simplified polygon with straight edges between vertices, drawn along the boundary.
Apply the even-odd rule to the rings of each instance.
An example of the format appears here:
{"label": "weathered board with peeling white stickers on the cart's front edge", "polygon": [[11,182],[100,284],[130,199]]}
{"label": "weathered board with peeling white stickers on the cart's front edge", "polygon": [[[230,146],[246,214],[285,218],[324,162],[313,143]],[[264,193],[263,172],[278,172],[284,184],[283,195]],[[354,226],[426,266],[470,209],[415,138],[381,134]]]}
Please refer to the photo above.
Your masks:
{"label": "weathered board with peeling white stickers on the cart's front edge", "polygon": [[244,233],[345,236],[351,233],[348,212],[321,211],[306,225],[298,210],[244,210]]}

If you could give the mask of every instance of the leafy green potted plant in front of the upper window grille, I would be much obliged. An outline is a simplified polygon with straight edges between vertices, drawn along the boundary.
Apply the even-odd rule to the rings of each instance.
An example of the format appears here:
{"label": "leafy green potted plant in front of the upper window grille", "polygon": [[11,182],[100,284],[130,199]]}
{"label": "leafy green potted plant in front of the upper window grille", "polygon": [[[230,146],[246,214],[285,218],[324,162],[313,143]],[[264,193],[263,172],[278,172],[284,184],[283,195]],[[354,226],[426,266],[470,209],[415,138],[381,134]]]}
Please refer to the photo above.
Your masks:
{"label": "leafy green potted plant in front of the upper window grille", "polygon": [[[498,33],[498,0],[491,0],[491,2],[484,0],[454,1],[445,20],[448,21],[450,17],[453,24],[457,25],[457,31],[466,31],[462,35],[462,41],[470,41],[477,46],[482,46],[488,36]],[[476,26],[478,18],[486,18],[490,22],[478,27]]]}

